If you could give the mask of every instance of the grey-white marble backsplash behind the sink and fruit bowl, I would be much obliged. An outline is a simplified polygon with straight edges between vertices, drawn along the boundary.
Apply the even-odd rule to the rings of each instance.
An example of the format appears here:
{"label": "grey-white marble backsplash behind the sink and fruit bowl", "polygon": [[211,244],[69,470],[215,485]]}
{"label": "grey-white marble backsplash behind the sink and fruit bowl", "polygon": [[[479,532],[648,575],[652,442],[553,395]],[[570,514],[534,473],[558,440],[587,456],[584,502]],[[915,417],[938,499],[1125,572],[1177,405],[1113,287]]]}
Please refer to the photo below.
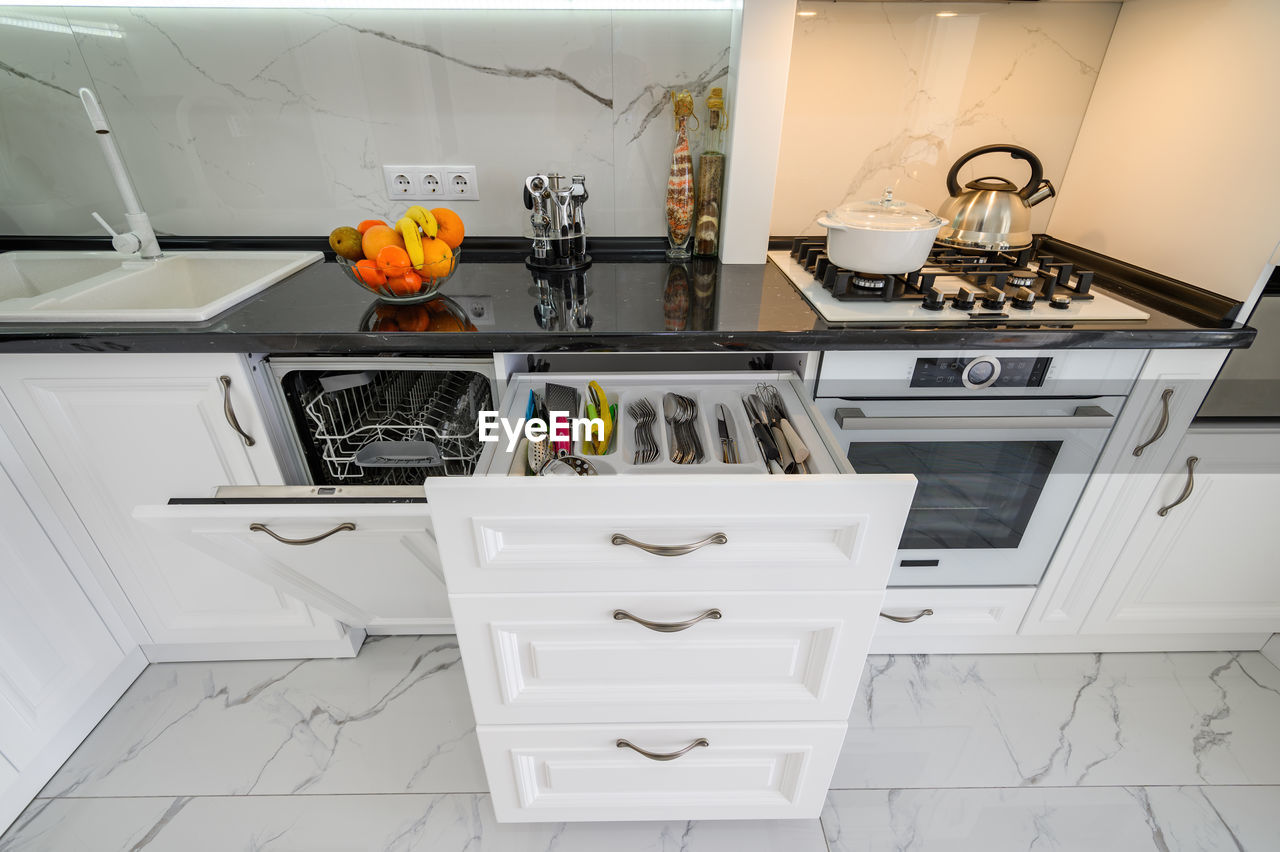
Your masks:
{"label": "grey-white marble backsplash behind the sink and fruit bowl", "polygon": [[726,86],[728,12],[0,9],[0,233],[123,210],[76,96],[96,90],[173,234],[393,217],[383,164],[477,168],[468,233],[520,234],[525,175],[588,177],[598,235],[660,235],[667,91]]}

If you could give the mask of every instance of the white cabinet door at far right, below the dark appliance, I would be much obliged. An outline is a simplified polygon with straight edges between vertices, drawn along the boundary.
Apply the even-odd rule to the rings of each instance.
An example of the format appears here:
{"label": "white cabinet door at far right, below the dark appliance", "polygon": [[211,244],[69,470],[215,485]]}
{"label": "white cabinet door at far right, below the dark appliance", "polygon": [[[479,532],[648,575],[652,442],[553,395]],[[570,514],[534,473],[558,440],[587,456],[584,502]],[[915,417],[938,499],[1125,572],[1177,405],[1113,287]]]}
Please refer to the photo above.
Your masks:
{"label": "white cabinet door at far right, below the dark appliance", "polygon": [[1276,507],[1280,431],[1188,432],[1083,632],[1280,632]]}

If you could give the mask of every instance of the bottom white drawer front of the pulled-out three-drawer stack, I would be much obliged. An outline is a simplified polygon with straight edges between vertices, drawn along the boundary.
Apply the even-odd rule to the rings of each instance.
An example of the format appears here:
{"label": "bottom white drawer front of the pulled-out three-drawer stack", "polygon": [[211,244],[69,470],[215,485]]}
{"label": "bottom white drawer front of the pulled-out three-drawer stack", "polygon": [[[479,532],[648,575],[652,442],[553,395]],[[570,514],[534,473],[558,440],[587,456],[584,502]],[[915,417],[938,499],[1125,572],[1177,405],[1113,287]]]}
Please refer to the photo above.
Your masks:
{"label": "bottom white drawer front of the pulled-out three-drawer stack", "polygon": [[[502,823],[814,819],[846,723],[480,725]],[[673,760],[652,760],[626,739]]]}

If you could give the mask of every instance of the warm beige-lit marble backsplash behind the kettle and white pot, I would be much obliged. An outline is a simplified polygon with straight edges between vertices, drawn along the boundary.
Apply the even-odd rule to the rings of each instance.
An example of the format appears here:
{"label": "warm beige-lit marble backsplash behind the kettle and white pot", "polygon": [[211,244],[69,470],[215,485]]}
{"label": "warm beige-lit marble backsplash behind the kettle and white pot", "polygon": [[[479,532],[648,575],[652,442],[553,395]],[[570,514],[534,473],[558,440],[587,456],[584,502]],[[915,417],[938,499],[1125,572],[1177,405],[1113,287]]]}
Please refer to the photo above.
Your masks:
{"label": "warm beige-lit marble backsplash behind the kettle and white pot", "polygon": [[[1061,187],[1119,3],[810,3],[796,19],[772,234],[822,234],[823,211],[895,196],[937,210],[966,151],[1012,142]],[[955,13],[946,15],[942,13]],[[960,183],[1000,174],[980,157]],[[1046,229],[1053,200],[1032,212]]]}

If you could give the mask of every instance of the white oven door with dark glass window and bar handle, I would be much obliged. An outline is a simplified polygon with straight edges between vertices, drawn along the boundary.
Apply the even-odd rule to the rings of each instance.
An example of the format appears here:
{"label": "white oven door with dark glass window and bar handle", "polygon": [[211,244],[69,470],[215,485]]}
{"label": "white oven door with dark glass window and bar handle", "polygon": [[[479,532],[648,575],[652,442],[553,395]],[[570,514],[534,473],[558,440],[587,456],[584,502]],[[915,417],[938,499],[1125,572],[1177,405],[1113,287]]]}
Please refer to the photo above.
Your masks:
{"label": "white oven door with dark glass window and bar handle", "polygon": [[1123,397],[819,399],[859,473],[919,485],[890,586],[1033,586]]}

